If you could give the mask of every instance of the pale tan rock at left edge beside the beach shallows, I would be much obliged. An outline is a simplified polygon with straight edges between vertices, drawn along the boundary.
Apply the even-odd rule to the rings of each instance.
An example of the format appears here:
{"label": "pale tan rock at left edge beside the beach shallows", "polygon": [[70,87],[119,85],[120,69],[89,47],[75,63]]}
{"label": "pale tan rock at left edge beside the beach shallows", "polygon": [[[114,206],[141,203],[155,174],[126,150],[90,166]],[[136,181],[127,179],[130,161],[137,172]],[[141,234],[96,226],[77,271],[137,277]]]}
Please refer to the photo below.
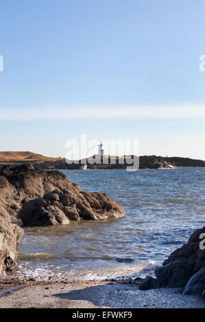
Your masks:
{"label": "pale tan rock at left edge beside the beach shallows", "polygon": [[10,223],[10,216],[0,206],[0,279],[13,271],[23,230]]}

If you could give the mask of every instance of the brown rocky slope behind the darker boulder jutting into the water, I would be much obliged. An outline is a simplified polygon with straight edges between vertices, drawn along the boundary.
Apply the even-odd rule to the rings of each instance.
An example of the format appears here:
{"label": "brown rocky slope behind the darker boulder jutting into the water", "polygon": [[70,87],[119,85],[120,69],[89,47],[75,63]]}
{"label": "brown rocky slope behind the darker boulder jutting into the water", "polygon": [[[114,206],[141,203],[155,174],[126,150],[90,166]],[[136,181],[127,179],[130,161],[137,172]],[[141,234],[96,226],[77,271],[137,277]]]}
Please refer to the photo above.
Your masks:
{"label": "brown rocky slope behind the darker boulder jutting into the water", "polygon": [[25,201],[43,197],[56,188],[81,190],[59,171],[36,169],[32,164],[24,164],[0,169],[0,205],[15,219]]}

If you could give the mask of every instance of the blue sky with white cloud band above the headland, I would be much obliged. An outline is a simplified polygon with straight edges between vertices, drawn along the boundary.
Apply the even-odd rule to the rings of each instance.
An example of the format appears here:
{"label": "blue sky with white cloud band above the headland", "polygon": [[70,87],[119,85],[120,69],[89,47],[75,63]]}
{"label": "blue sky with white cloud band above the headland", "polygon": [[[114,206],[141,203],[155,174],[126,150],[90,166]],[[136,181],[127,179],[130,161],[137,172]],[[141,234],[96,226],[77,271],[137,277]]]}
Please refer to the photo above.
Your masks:
{"label": "blue sky with white cloud band above the headland", "polygon": [[86,134],[205,160],[204,12],[204,0],[1,1],[0,150],[64,157]]}

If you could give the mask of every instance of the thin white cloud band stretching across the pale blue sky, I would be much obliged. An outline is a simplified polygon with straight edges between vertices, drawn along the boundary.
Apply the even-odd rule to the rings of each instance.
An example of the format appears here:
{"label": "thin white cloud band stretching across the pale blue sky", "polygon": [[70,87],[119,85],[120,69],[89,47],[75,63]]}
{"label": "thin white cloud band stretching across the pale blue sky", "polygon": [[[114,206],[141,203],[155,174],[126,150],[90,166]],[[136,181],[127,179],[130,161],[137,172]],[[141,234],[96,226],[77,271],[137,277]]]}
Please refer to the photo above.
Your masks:
{"label": "thin white cloud band stretching across the pale blue sky", "polygon": [[205,119],[205,106],[42,106],[1,108],[0,121],[60,119]]}

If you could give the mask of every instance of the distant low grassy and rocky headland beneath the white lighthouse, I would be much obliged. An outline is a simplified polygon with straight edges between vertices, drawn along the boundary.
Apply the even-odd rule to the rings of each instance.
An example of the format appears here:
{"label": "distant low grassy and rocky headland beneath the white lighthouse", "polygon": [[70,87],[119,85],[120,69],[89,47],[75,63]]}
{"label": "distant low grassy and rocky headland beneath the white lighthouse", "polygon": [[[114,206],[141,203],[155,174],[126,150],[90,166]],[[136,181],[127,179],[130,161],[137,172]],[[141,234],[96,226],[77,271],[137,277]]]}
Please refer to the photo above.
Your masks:
{"label": "distant low grassy and rocky headland beneath the white lighthouse", "polygon": [[[132,156],[127,158],[129,160]],[[91,164],[91,159],[97,162]],[[113,159],[116,160],[115,164],[112,162]],[[0,151],[0,168],[5,165],[18,166],[30,163],[41,169],[126,169],[130,162],[123,162],[123,159],[125,160],[125,156],[93,156],[80,160],[77,164],[68,164],[65,158],[50,158],[29,151]],[[205,161],[180,157],[139,157],[139,169],[172,169],[180,166],[205,166]]]}

